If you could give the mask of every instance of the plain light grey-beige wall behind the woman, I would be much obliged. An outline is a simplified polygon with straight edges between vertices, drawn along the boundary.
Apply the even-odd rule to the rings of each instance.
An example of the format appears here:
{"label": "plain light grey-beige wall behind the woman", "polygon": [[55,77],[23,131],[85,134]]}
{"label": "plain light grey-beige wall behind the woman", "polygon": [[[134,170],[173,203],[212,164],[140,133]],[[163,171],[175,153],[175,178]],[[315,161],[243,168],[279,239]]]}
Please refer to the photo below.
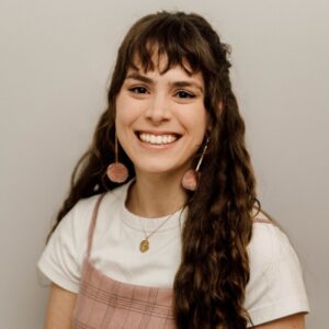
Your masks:
{"label": "plain light grey-beige wall behind the woman", "polygon": [[205,15],[232,78],[264,208],[304,268],[308,328],[328,328],[329,2],[1,0],[0,328],[42,328],[45,237],[105,107],[118,43],[139,16]]}

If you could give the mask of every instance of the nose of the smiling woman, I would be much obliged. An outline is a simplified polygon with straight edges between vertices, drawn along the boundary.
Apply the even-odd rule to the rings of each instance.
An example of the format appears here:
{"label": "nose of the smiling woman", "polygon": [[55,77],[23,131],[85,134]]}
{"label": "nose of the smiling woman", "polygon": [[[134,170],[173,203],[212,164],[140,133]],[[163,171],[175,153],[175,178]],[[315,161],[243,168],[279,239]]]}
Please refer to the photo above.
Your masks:
{"label": "nose of the smiling woman", "polygon": [[157,94],[152,98],[146,111],[146,117],[154,123],[170,120],[170,102],[166,95]]}

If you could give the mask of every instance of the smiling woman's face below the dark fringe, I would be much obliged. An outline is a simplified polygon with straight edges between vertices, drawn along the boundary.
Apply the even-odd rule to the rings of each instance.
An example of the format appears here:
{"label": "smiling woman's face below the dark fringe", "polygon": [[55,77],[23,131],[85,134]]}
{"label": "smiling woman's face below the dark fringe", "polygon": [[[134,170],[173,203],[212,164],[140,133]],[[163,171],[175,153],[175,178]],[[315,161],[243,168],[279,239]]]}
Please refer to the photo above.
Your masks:
{"label": "smiling woman's face below the dark fringe", "polygon": [[189,76],[180,66],[162,75],[158,69],[128,69],[116,98],[115,124],[136,174],[191,168],[206,131],[204,89],[201,72]]}

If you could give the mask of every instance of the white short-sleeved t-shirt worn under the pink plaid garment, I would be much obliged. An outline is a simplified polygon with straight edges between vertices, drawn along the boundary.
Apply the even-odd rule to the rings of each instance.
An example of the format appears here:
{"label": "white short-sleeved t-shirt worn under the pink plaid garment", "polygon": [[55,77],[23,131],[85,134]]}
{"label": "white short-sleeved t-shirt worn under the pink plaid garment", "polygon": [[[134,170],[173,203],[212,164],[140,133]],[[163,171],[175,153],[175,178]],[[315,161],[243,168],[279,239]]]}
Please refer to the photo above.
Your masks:
{"label": "white short-sleeved t-shirt worn under the pink plaid garment", "polygon": [[[125,207],[128,185],[107,192],[101,202],[91,262],[116,281],[170,287],[180,264],[181,228],[186,209],[169,218],[138,217]],[[97,198],[94,195],[81,200],[61,219],[38,262],[39,270],[50,281],[73,293],[79,291]],[[149,238],[149,250],[140,252],[140,241],[159,226]],[[253,325],[309,310],[298,259],[276,226],[254,223],[248,252],[250,281],[245,308]]]}

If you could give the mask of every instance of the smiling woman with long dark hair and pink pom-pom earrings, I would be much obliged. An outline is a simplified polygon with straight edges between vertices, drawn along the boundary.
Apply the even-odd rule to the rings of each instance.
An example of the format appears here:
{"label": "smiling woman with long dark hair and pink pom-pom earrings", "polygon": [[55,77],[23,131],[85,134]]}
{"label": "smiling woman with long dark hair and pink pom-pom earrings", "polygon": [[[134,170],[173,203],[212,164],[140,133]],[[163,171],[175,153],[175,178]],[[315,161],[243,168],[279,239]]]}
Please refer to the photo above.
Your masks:
{"label": "smiling woman with long dark hair and pink pom-pom earrings", "polygon": [[132,26],[38,264],[46,328],[304,328],[299,263],[260,212],[227,57],[196,14]]}

